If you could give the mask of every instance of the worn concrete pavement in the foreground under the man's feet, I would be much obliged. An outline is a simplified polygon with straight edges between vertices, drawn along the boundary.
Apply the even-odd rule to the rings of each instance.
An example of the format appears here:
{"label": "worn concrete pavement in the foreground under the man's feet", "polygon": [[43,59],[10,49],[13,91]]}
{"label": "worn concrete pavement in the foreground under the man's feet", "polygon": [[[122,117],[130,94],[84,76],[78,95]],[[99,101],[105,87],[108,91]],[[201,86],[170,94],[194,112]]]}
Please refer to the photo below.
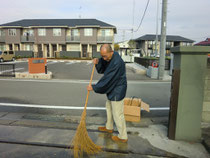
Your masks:
{"label": "worn concrete pavement in the foreground under the man's feet", "polygon": [[[10,158],[14,153],[17,158],[73,157],[67,148],[76,133],[80,117],[62,118],[65,119],[59,116],[53,120],[47,115],[0,113],[1,155],[4,158]],[[104,118],[87,118],[89,136],[103,147],[103,152],[93,157],[209,157],[201,143],[169,140],[167,127],[161,122],[165,124],[161,119],[142,118],[140,123],[127,123],[128,143],[115,143],[111,140],[111,134],[97,131],[97,127],[105,123]]]}

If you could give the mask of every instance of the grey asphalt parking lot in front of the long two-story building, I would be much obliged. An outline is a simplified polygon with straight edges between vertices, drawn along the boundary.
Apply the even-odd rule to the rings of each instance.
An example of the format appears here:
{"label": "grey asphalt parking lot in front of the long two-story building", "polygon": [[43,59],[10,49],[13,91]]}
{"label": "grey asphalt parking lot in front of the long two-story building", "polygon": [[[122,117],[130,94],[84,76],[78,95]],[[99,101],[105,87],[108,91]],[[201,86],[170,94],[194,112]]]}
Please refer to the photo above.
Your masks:
{"label": "grey asphalt parking lot in front of the long two-story building", "polygon": [[[7,63],[15,63],[17,72],[26,72],[28,71],[28,63],[27,61],[15,61],[15,62],[7,62]],[[76,80],[89,80],[90,74],[92,71],[92,61],[48,61],[47,68],[48,71],[53,73],[53,79],[76,79]],[[145,75],[136,74],[135,71],[127,66],[127,78],[128,80],[151,80],[149,77]],[[78,73],[78,70],[80,73]],[[102,77],[102,75],[97,72],[94,73],[93,80],[98,80]]]}

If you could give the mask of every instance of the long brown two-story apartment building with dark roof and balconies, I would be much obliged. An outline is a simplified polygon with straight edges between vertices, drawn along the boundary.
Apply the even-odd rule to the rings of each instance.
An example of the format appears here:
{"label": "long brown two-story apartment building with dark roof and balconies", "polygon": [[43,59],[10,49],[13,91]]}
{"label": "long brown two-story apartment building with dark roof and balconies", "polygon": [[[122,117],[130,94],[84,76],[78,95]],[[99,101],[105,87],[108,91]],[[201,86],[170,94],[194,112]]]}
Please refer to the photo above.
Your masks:
{"label": "long brown two-story apartment building with dark roof and balconies", "polygon": [[0,50],[34,57],[93,57],[114,48],[116,27],[97,19],[25,19],[0,25]]}

